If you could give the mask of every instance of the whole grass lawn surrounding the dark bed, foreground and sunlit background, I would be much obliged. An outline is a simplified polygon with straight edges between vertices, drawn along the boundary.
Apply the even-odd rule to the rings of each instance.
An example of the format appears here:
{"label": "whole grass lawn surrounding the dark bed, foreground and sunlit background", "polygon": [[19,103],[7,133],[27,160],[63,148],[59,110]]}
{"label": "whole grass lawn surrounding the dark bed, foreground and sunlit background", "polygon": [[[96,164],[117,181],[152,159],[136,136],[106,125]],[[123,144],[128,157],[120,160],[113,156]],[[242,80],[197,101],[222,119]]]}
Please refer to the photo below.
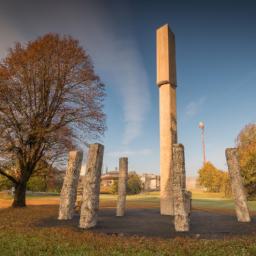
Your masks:
{"label": "whole grass lawn surrounding the dark bed, foreground and sunlit background", "polygon": [[[44,218],[57,217],[57,196],[28,196],[28,207],[8,208],[10,197],[0,195],[0,255],[256,255],[256,238],[225,240],[158,239],[95,234],[64,227],[38,227]],[[116,196],[101,195],[100,207],[115,207]],[[159,193],[128,196],[128,207],[159,207]],[[249,202],[253,214],[256,201]],[[233,203],[221,194],[193,191],[193,208],[232,213]]]}

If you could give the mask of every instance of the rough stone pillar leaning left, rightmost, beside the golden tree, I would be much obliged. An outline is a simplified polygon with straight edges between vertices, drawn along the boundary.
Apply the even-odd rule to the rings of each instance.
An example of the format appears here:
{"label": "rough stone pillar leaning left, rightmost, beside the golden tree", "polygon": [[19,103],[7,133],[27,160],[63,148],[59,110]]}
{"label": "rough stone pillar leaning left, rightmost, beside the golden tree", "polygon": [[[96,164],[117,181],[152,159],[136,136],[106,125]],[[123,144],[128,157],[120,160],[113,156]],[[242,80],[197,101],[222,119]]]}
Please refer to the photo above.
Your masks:
{"label": "rough stone pillar leaning left, rightmost, beside the golden tree", "polygon": [[250,222],[251,218],[248,210],[246,194],[240,173],[237,149],[227,148],[226,159],[230,175],[232,193],[235,200],[237,220],[240,222]]}

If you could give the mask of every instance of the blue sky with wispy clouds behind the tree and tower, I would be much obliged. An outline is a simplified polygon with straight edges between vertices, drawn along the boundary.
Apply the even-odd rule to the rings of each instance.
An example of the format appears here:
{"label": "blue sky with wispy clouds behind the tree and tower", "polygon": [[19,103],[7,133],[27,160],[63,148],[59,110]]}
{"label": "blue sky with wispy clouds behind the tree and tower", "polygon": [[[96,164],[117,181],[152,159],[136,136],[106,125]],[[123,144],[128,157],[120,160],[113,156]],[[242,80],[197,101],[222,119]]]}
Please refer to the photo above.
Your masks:
{"label": "blue sky with wispy clouds behind the tree and tower", "polygon": [[0,56],[15,41],[48,32],[77,38],[107,88],[104,168],[129,157],[130,169],[159,172],[155,31],[176,36],[178,140],[186,170],[206,156],[226,169],[225,148],[256,121],[256,4],[254,1],[5,1],[0,0]]}

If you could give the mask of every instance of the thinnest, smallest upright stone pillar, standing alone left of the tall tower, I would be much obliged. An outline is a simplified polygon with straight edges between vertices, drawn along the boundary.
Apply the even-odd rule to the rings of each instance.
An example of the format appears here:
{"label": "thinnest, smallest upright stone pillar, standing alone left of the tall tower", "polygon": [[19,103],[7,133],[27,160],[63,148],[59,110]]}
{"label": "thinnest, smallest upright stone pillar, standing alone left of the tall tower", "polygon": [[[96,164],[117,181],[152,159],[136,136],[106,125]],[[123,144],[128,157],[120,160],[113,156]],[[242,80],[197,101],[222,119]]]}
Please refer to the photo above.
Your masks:
{"label": "thinnest, smallest upright stone pillar, standing alone left of the tall tower", "polygon": [[118,198],[116,207],[116,216],[124,216],[126,204],[126,187],[128,179],[128,158],[119,158],[119,176],[118,176]]}

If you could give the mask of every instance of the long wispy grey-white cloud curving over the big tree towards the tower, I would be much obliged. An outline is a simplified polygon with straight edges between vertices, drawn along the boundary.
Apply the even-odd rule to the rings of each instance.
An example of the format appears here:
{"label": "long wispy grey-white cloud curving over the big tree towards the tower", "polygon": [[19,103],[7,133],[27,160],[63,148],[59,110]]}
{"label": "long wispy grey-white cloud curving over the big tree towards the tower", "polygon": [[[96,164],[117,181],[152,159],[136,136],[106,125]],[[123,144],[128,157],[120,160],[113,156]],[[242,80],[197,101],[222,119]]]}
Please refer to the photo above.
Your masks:
{"label": "long wispy grey-white cloud curving over the big tree towards the tower", "polygon": [[[5,45],[8,46],[10,42],[21,40],[20,36],[15,36],[15,27],[21,29],[22,34],[27,35],[29,39],[51,31],[70,33],[78,38],[92,56],[95,69],[103,82],[108,81],[106,85],[114,88],[120,96],[123,112],[121,122],[124,131],[123,138],[119,140],[128,145],[141,134],[150,108],[147,74],[136,39],[132,35],[132,29],[129,28],[129,22],[126,21],[124,27],[123,24],[117,23],[114,20],[115,15],[109,13],[108,4],[104,1],[86,0],[78,1],[76,4],[65,2],[62,5],[52,1],[44,3],[46,4],[40,5],[40,12],[31,12],[29,16],[30,19],[34,17],[36,22],[24,19],[22,28],[16,18],[19,16],[21,19],[22,12],[13,14],[12,19],[15,24],[12,28],[7,26],[12,25],[9,20],[8,24],[5,24],[0,19],[1,43],[5,42],[5,37],[8,39]],[[122,9],[120,13],[129,12],[125,2],[117,2],[116,6]],[[15,8],[17,12],[17,5]],[[20,4],[19,8],[24,9],[24,6]],[[37,10],[37,3],[31,3],[30,9]],[[58,10],[57,18],[55,10]],[[12,13],[12,10],[9,12]],[[46,15],[47,19],[45,19]],[[9,19],[7,14],[4,16]],[[3,29],[10,34],[2,33]],[[1,45],[0,51],[4,47]]]}

